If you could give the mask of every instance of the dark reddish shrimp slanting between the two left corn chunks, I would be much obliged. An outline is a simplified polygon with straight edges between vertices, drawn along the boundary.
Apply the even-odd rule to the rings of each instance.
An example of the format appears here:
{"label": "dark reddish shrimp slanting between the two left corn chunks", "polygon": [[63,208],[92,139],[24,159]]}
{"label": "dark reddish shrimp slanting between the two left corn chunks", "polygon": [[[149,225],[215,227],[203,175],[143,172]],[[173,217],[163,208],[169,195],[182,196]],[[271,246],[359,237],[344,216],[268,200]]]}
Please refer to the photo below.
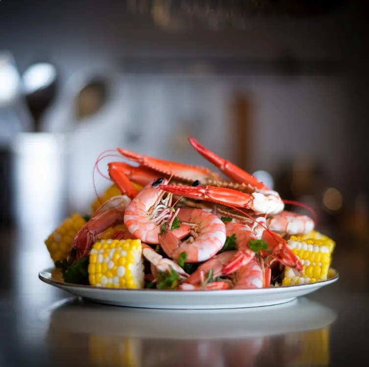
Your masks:
{"label": "dark reddish shrimp slanting between the two left corn chunks", "polygon": [[74,237],[70,252],[70,256],[75,254],[74,261],[89,252],[91,246],[96,242],[99,233],[111,226],[123,223],[124,212],[130,201],[130,198],[125,195],[115,196],[98,208],[91,219]]}

